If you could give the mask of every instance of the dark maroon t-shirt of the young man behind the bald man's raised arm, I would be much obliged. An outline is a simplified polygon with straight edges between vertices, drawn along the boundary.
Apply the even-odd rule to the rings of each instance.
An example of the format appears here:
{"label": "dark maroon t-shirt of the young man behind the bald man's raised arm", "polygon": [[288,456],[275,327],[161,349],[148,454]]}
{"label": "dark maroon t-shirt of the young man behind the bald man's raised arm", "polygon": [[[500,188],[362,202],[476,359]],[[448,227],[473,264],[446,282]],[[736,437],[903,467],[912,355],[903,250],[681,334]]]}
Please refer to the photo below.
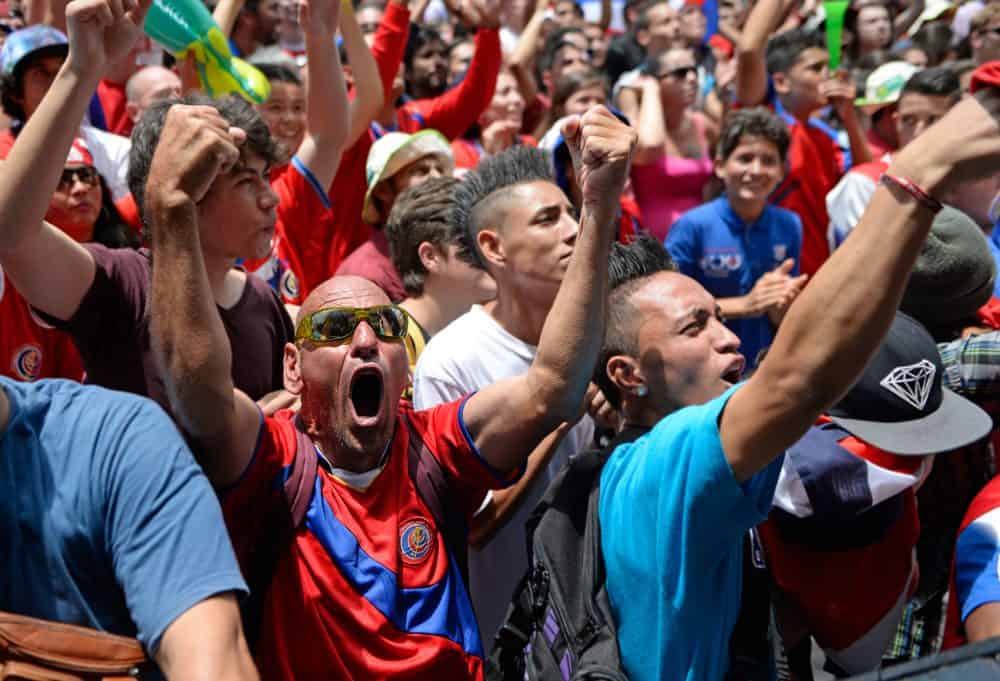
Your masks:
{"label": "dark maroon t-shirt of the young man behind the bald man's raised arm", "polygon": [[[73,337],[87,382],[145,395],[167,407],[163,378],[149,339],[152,263],[146,249],[111,250],[85,244],[97,271],[80,307],[67,321],[42,315]],[[239,301],[219,309],[233,357],[233,383],[252,399],[282,387],[282,355],[294,338],[292,322],[267,283],[247,276]]]}

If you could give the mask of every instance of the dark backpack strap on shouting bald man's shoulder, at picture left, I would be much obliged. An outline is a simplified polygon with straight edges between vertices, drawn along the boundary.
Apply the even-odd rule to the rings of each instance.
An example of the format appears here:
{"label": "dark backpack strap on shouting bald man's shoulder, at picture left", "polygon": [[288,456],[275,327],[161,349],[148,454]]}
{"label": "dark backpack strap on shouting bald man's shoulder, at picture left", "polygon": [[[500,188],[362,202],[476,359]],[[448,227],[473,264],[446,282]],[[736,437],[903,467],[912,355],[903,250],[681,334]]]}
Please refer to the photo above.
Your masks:
{"label": "dark backpack strap on shouting bald man's shoulder, at picture left", "polygon": [[[271,590],[271,581],[278,569],[281,555],[292,545],[295,532],[303,523],[309,503],[316,487],[316,473],[319,454],[316,445],[300,429],[295,420],[295,458],[288,470],[288,477],[282,484],[282,502],[273,504],[264,521],[262,536],[269,540],[260,542],[255,548],[255,557],[246,571],[250,596],[244,601],[243,629],[251,649],[256,648],[260,636],[260,622],[264,614],[264,602]],[[256,652],[256,651],[254,651]]]}

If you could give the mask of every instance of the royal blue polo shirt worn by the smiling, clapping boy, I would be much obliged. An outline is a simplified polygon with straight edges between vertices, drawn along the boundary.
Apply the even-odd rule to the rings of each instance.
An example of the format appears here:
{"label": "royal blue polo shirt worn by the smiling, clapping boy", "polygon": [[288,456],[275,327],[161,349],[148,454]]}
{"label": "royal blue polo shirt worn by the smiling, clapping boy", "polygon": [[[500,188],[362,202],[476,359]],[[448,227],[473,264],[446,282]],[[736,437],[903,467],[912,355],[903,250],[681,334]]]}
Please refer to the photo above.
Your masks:
{"label": "royal blue polo shirt worn by the smiling, clapping boy", "polygon": [[[758,279],[786,258],[795,259],[792,273],[798,274],[802,221],[790,210],[768,205],[756,222],[747,225],[721,196],[678,218],[666,246],[683,274],[716,298],[735,298],[750,293]],[[740,338],[747,367],[756,366],[757,355],[774,340],[767,315],[730,319],[726,324]]]}

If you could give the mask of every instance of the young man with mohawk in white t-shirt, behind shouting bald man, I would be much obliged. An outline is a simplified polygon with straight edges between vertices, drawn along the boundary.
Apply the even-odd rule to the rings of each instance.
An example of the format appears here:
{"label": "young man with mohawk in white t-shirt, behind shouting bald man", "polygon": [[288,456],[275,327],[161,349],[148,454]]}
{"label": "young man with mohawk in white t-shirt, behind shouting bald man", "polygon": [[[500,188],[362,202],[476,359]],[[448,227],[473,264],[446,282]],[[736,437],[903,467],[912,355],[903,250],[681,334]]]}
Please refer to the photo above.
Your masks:
{"label": "young man with mohawk in white t-shirt, behind shouting bald man", "polygon": [[[593,202],[585,180],[584,211]],[[617,205],[617,195],[608,198]],[[414,373],[418,409],[450,402],[531,366],[577,247],[574,212],[553,183],[547,154],[533,147],[513,147],[485,159],[458,185],[454,223],[468,232],[496,281],[497,296],[474,305],[428,343]],[[529,458],[528,480],[514,490],[491,493],[479,512],[480,520],[494,513],[509,517],[506,527],[469,554],[469,589],[483,640],[493,640],[510,594],[528,568],[528,514],[569,457],[590,445],[593,431],[593,422],[584,417],[561,443]]]}

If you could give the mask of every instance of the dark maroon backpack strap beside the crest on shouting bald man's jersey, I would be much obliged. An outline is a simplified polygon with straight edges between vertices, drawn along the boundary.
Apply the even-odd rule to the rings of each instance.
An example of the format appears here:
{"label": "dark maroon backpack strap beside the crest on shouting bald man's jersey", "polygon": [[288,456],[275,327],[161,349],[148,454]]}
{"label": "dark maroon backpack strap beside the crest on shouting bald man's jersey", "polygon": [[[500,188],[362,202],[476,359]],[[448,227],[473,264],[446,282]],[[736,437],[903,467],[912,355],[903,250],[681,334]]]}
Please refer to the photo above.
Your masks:
{"label": "dark maroon backpack strap beside the crest on shouting bald man's jersey", "polygon": [[465,515],[454,507],[448,475],[431,452],[410,418],[403,414],[410,435],[406,448],[407,470],[417,494],[431,512],[434,524],[444,536],[449,553],[458,564],[462,579],[469,583],[469,527]]}

